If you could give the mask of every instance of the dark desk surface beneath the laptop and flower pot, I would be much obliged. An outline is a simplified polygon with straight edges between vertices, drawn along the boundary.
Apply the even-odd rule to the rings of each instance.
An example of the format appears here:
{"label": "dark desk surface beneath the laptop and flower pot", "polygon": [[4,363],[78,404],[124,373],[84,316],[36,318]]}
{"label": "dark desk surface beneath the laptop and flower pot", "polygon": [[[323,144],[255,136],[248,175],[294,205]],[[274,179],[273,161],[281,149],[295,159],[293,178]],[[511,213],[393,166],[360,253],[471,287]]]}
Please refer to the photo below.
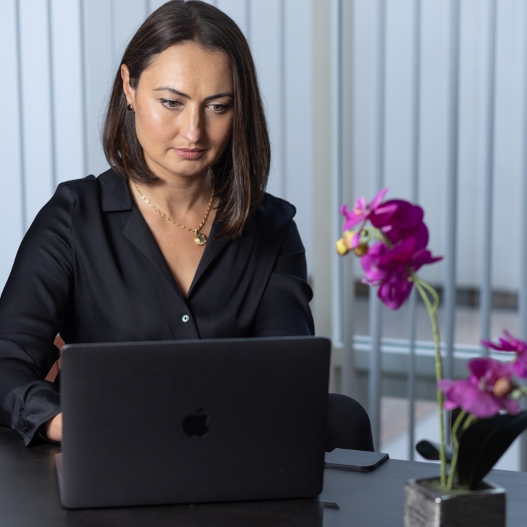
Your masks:
{"label": "dark desk surface beneath the laptop and flower pot", "polygon": [[[0,527],[397,527],[403,525],[403,484],[434,476],[432,463],[388,460],[373,472],[326,469],[320,501],[174,505],[68,511],[58,497],[54,454],[39,444],[23,448],[16,432],[0,427]],[[491,480],[507,489],[508,527],[527,525],[527,473],[497,470]]]}

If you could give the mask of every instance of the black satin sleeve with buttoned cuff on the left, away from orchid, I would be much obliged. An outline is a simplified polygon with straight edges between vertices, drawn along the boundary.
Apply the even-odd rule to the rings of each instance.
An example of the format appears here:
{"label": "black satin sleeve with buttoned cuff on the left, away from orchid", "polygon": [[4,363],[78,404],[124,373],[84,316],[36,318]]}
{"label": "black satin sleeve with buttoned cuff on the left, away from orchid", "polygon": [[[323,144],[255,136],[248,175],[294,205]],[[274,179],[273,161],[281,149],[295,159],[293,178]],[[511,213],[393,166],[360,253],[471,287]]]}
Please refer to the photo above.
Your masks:
{"label": "black satin sleeve with buttoned cuff on the left, away from orchid", "polygon": [[27,231],[0,297],[0,423],[26,446],[60,412],[58,386],[44,379],[58,359],[53,342],[73,283],[74,209],[68,185],[59,185]]}

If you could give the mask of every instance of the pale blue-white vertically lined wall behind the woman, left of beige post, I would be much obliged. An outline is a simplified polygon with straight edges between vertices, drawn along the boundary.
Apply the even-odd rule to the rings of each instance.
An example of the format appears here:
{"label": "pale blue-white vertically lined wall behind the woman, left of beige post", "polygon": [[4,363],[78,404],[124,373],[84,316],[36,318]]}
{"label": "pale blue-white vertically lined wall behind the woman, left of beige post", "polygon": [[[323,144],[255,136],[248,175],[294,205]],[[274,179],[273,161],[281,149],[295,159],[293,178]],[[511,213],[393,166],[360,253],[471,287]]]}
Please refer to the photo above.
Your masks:
{"label": "pale blue-white vertically lined wall behind the woman, left of beige post", "polygon": [[[159,0],[0,0],[0,290],[58,183],[108,168],[100,130],[132,34]],[[297,207],[312,268],[311,0],[215,0],[253,50],[272,142],[268,191]]]}

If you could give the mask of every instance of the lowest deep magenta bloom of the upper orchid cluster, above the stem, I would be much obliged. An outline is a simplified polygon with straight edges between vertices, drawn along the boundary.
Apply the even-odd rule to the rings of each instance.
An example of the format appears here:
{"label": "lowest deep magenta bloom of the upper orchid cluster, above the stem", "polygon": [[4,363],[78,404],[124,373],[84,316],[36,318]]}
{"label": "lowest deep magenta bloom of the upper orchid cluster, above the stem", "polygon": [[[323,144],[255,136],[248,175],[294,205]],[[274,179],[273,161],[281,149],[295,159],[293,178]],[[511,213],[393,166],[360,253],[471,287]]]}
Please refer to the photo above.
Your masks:
{"label": "lowest deep magenta bloom of the upper orchid cluster, above the stem", "polygon": [[379,285],[377,296],[390,309],[399,309],[410,296],[413,283],[410,270],[417,271],[425,264],[433,264],[442,257],[432,257],[430,250],[419,248],[414,237],[403,239],[393,248],[383,242],[373,244],[361,259],[368,285]]}

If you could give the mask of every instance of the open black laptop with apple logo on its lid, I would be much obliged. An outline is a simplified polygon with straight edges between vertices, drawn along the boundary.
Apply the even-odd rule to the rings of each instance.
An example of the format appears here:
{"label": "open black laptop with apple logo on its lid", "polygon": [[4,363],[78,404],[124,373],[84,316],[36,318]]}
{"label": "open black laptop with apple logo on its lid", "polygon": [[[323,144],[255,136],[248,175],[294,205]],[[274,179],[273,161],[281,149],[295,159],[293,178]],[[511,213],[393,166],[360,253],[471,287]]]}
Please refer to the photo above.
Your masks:
{"label": "open black laptop with apple logo on its lid", "polygon": [[314,497],[331,344],[253,338],[62,351],[62,504]]}

